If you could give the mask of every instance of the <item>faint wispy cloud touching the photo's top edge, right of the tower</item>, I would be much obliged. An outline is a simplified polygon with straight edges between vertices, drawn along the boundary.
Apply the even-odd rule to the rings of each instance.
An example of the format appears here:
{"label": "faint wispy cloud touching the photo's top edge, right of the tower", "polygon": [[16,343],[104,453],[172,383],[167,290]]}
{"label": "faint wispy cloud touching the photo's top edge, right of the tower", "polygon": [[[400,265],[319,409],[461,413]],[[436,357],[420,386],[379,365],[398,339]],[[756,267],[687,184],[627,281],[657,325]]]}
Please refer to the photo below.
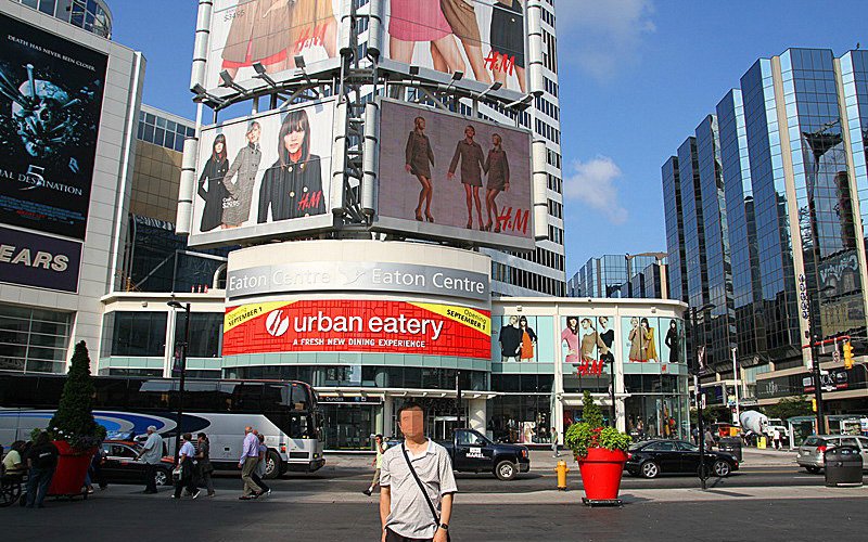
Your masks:
{"label": "faint wispy cloud touching the photo's top edge, right of the tower", "polygon": [[643,38],[656,30],[651,20],[652,0],[554,0],[554,3],[561,62],[575,62],[598,80],[609,80],[620,68],[638,62]]}

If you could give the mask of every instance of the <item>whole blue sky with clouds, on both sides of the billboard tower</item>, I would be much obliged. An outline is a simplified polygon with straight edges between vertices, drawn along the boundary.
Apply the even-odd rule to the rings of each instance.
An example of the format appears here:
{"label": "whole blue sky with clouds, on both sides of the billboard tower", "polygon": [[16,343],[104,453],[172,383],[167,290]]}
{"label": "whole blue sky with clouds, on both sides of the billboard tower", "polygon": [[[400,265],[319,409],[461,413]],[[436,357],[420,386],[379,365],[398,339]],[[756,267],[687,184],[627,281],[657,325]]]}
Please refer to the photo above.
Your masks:
{"label": "whole blue sky with clouds, on both sides of the billboard tower", "polygon": [[[666,250],[660,168],[757,59],[868,47],[866,0],[554,3],[567,279],[593,256]],[[111,2],[113,39],[148,61],[144,103],[191,119],[196,4]]]}

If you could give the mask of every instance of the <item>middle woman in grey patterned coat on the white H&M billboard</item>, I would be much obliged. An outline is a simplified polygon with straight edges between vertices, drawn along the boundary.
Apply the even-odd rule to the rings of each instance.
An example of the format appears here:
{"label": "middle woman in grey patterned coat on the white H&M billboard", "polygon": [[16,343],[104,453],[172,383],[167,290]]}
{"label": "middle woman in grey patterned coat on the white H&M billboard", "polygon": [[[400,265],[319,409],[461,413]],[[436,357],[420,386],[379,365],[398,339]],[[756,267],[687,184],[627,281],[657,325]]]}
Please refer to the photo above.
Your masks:
{"label": "middle woman in grey patterned coat on the white H&M billboard", "polygon": [[[247,144],[239,150],[224,177],[224,186],[229,192],[229,196],[224,199],[224,229],[238,228],[250,218],[253,185],[263,159],[263,151],[259,149],[261,133],[263,128],[256,120],[247,125]],[[232,182],[235,176],[238,180]]]}

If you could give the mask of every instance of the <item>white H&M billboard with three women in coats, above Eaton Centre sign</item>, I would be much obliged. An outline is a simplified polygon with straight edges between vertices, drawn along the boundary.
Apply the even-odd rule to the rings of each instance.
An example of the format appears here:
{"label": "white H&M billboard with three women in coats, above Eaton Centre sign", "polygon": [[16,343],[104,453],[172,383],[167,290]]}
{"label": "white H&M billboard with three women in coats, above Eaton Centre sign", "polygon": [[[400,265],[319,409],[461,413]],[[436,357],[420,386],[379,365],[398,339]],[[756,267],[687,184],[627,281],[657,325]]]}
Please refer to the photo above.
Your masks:
{"label": "white H&M billboard with three women in coats, above Eaton Centre sign", "polygon": [[204,128],[191,245],[331,224],[334,101]]}

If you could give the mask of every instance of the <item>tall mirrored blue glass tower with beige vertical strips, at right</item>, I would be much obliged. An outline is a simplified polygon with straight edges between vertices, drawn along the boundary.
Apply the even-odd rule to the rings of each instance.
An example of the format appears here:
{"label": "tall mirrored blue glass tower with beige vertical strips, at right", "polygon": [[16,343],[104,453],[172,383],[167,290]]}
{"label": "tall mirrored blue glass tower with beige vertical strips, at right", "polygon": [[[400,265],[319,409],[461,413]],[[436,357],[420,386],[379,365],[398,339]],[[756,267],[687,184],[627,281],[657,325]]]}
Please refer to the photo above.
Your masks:
{"label": "tall mirrored blue glass tower with beige vertical strips, at right", "polygon": [[[866,67],[863,51],[760,59],[663,166],[671,295],[713,306],[689,345],[705,346],[715,378],[731,377],[735,349],[761,403],[805,392],[790,373],[809,365],[812,317],[819,339],[868,351]],[[820,361],[838,371],[833,349]],[[855,373],[833,379],[866,386]],[[841,392],[828,393],[832,413],[854,405]]]}

